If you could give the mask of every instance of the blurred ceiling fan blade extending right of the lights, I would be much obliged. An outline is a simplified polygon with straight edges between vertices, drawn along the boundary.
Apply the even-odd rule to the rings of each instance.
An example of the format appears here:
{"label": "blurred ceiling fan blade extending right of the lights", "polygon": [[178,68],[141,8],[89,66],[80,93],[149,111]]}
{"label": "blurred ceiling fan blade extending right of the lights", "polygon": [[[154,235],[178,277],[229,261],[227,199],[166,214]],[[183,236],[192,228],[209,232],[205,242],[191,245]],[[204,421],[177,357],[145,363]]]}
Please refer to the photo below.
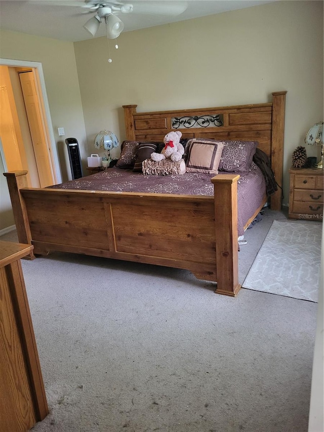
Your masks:
{"label": "blurred ceiling fan blade extending right of the lights", "polygon": [[164,0],[163,2],[150,2],[149,0],[144,2],[134,1],[133,13],[143,15],[166,15],[166,16],[177,16],[182,14],[188,7],[186,1],[175,1],[175,0]]}

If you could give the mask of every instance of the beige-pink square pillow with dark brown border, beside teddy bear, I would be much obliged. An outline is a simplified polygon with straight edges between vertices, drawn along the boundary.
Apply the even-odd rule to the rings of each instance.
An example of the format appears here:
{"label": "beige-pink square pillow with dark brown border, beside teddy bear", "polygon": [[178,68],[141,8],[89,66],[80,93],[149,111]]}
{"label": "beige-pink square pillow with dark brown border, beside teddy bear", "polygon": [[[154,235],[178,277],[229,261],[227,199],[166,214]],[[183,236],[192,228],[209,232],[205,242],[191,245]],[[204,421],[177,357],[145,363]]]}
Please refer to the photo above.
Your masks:
{"label": "beige-pink square pillow with dark brown border, beside teddy bear", "polygon": [[186,171],[189,173],[218,174],[218,165],[222,155],[222,141],[191,139],[186,145],[188,159]]}

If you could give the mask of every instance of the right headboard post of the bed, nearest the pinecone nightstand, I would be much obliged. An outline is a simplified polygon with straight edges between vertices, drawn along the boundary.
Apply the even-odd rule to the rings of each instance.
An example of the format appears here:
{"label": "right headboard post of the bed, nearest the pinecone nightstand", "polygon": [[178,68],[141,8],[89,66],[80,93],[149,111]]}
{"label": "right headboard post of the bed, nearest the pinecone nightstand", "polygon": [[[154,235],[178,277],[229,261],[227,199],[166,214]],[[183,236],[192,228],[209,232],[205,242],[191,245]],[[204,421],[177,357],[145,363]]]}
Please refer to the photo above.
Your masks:
{"label": "right headboard post of the bed, nearest the pinecone nightstand", "polygon": [[[275,180],[280,187],[282,187],[282,169],[284,166],[286,93],[287,91],[272,93],[271,166]],[[271,210],[281,210],[282,191],[280,187],[271,195]]]}

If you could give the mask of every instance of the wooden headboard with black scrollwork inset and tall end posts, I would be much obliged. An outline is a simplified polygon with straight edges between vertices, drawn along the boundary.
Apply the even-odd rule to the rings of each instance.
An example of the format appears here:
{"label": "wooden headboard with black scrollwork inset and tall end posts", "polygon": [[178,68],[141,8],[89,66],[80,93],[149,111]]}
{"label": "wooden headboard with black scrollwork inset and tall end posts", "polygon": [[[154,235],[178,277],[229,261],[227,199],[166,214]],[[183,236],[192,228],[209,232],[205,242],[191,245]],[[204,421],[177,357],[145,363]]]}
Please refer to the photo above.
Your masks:
{"label": "wooden headboard with black scrollwork inset and tall end posts", "polygon": [[[180,130],[183,138],[258,141],[282,187],[286,93],[273,92],[267,103],[173,111],[136,112],[137,105],[123,105],[126,138],[163,141],[168,132]],[[271,209],[281,209],[280,189],[271,196]]]}

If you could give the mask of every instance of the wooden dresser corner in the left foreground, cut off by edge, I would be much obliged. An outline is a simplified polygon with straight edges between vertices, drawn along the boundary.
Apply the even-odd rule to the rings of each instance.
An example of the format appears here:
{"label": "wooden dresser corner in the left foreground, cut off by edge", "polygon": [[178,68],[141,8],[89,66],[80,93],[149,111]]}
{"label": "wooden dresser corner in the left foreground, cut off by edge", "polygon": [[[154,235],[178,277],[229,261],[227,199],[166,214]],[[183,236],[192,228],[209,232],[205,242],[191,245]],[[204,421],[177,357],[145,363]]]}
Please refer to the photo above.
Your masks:
{"label": "wooden dresser corner in the left foreground, cut off by edge", "polygon": [[0,241],[0,432],[25,432],[48,414],[20,263],[32,249]]}

